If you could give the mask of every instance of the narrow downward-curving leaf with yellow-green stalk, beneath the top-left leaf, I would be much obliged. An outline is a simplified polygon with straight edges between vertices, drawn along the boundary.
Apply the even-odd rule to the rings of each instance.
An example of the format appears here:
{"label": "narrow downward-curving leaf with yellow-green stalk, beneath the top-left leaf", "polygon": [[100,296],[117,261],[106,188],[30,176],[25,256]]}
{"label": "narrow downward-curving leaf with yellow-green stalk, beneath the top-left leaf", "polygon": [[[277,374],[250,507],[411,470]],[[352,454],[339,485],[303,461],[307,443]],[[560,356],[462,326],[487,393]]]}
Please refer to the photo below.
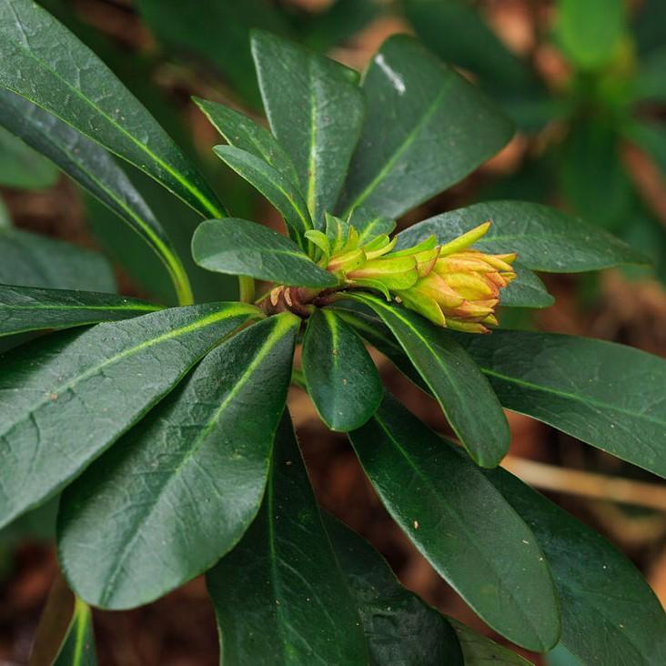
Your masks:
{"label": "narrow downward-curving leaf with yellow-green stalk, beneath the top-left leaf", "polygon": [[67,176],[110,208],[163,262],[178,296],[192,300],[187,274],[165,230],[104,148],[24,97],[0,89],[0,125],[52,159]]}

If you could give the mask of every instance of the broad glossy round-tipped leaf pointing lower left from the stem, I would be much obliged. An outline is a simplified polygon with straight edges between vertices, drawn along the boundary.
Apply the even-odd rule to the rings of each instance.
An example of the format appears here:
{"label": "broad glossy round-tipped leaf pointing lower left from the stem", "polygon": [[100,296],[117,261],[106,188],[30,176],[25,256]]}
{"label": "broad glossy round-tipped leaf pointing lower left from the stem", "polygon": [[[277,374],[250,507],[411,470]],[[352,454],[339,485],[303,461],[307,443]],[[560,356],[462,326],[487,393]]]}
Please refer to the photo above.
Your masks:
{"label": "broad glossy round-tipped leaf pointing lower left from the stem", "polygon": [[139,606],[236,545],[264,494],[299,324],[285,313],[217,347],[66,489],[58,560],[80,597]]}

